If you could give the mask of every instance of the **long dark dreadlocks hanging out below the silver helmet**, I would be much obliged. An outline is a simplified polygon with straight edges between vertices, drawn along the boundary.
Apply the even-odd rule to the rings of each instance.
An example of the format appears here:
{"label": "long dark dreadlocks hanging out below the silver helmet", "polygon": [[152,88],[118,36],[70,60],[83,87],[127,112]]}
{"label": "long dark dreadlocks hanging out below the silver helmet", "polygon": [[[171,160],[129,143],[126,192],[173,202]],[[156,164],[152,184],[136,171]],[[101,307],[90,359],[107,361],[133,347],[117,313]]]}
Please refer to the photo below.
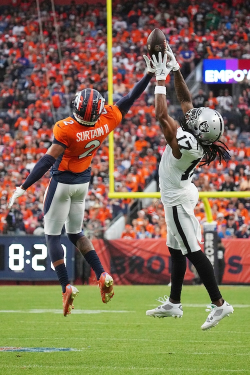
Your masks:
{"label": "long dark dreadlocks hanging out below the silver helmet", "polygon": [[216,156],[218,157],[219,163],[221,163],[222,159],[226,160],[226,158],[230,157],[230,154],[228,153],[229,148],[224,142],[221,142],[220,140],[217,141],[223,144],[222,146],[216,143],[211,143],[211,144],[202,143],[199,135],[193,134],[193,132],[190,129],[188,129],[186,125],[185,117],[179,118],[179,123],[180,123],[181,128],[184,131],[188,131],[196,138],[197,148],[200,145],[204,151],[204,156],[203,156],[203,159],[201,160],[202,164],[200,164],[200,166],[209,165],[210,162],[212,162],[216,158]]}

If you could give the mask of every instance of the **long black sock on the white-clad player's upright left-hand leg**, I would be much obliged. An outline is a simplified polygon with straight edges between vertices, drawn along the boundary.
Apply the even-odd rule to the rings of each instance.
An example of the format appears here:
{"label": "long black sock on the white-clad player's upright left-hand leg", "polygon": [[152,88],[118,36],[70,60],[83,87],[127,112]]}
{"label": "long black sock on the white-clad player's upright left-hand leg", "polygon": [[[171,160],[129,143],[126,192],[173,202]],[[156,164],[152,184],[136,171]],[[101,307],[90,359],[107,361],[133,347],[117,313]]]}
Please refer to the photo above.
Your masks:
{"label": "long black sock on the white-clad player's upright left-hand leg", "polygon": [[180,301],[183,279],[186,271],[186,257],[181,250],[168,247],[171,254],[171,291],[169,298]]}

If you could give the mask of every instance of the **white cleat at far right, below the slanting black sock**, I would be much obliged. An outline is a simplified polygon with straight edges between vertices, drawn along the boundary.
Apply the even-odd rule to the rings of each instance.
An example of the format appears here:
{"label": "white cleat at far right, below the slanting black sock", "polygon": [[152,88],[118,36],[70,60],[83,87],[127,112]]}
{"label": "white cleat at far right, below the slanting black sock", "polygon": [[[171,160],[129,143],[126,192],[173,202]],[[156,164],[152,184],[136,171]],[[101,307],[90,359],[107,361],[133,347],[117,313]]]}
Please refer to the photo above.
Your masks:
{"label": "white cleat at far right, below the slanting black sock", "polygon": [[221,306],[216,306],[213,303],[210,303],[206,311],[210,311],[206,321],[201,325],[202,330],[210,329],[215,327],[218,324],[219,320],[223,319],[225,316],[229,316],[230,313],[233,313],[233,307],[226,301]]}

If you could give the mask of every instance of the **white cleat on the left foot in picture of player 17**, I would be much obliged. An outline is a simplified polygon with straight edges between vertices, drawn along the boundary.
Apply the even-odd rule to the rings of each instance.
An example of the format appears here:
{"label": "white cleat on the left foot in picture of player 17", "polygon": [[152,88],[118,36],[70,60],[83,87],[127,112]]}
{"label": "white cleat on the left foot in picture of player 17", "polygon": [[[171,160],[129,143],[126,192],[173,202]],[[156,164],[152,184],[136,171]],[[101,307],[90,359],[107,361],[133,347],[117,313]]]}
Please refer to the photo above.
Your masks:
{"label": "white cleat on the left foot in picture of player 17", "polygon": [[152,310],[147,310],[146,315],[153,316],[153,317],[165,317],[165,316],[172,316],[182,317],[182,305],[181,303],[172,303],[169,301],[167,295],[164,297],[159,297],[156,301],[162,303],[160,306],[153,308]]}

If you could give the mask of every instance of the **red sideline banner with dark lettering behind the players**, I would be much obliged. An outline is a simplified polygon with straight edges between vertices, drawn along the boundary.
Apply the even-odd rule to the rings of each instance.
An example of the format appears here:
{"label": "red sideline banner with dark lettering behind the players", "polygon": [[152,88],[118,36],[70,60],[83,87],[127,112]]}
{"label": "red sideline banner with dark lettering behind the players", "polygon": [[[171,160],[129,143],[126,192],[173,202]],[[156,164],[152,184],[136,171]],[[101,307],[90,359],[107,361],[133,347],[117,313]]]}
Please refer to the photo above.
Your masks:
{"label": "red sideline banner with dark lettering behind the players", "polygon": [[[107,272],[116,284],[167,284],[170,281],[170,254],[165,239],[92,240]],[[225,270],[222,283],[250,283],[250,239],[222,239]],[[194,275],[187,264],[184,282]]]}

